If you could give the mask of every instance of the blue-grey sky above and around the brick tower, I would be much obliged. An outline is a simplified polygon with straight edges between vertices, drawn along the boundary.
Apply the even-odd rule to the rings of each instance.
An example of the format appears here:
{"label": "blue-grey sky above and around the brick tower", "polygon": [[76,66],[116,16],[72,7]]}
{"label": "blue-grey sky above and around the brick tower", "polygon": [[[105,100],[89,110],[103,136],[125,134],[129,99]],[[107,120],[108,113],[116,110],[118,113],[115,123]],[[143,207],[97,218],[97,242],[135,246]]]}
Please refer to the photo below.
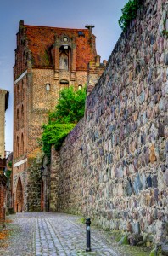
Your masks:
{"label": "blue-grey sky above and around the brick tower", "polygon": [[[19,20],[27,25],[85,28],[94,25],[97,53],[108,60],[120,37],[118,20],[128,0],[4,0],[0,7],[0,88],[9,90],[6,150],[13,151],[13,66]],[[0,117],[1,118],[1,117]]]}

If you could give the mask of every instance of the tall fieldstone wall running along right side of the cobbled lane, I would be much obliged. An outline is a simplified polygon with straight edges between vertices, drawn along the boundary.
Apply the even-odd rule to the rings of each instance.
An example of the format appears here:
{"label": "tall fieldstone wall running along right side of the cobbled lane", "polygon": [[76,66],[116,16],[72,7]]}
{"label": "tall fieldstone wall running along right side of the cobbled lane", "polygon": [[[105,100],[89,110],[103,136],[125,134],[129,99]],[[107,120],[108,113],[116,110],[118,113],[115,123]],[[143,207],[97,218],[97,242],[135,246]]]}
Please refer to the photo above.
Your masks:
{"label": "tall fieldstone wall running along right side of the cobbled lane", "polygon": [[59,156],[59,211],[155,241],[168,212],[167,10],[165,0],[143,2]]}

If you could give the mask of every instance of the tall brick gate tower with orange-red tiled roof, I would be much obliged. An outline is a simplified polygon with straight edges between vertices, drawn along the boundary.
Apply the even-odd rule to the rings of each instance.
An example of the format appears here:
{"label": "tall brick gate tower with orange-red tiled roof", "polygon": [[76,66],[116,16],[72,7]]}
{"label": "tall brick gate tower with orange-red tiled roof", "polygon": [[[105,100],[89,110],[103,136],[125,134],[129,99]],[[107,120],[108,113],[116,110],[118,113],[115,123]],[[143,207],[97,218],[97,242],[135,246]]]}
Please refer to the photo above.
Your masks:
{"label": "tall brick gate tower with orange-red tiled roof", "polygon": [[92,26],[70,29],[29,26],[21,20],[14,64],[13,203],[16,212],[40,210],[38,153],[42,124],[48,122],[62,88],[87,83],[87,64],[97,57]]}

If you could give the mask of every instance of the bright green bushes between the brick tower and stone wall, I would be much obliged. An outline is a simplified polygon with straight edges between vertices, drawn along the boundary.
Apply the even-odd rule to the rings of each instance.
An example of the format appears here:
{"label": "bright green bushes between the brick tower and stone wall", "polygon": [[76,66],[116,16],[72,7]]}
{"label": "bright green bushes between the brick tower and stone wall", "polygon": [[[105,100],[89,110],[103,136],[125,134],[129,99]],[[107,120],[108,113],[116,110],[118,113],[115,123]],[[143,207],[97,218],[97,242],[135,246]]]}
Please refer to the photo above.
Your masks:
{"label": "bright green bushes between the brick tower and stone wall", "polygon": [[64,89],[60,93],[55,111],[49,113],[48,125],[43,125],[42,149],[51,157],[51,146],[58,150],[64,138],[83,117],[85,111],[86,89],[75,91],[73,87]]}

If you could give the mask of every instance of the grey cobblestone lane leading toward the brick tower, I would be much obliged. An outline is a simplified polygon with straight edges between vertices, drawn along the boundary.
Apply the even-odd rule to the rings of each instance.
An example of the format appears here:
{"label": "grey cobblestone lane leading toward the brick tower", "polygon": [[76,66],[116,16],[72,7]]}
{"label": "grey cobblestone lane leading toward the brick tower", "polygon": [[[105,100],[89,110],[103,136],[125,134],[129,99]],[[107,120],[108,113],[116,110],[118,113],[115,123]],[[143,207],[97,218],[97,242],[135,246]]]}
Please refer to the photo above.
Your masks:
{"label": "grey cobblestone lane leading toward the brick tower", "polygon": [[74,215],[36,212],[17,213],[10,218],[13,231],[8,246],[0,247],[2,256],[134,255],[120,253],[117,246],[113,249],[105,231],[93,228],[92,253],[86,253],[85,225],[80,224],[81,218]]}

